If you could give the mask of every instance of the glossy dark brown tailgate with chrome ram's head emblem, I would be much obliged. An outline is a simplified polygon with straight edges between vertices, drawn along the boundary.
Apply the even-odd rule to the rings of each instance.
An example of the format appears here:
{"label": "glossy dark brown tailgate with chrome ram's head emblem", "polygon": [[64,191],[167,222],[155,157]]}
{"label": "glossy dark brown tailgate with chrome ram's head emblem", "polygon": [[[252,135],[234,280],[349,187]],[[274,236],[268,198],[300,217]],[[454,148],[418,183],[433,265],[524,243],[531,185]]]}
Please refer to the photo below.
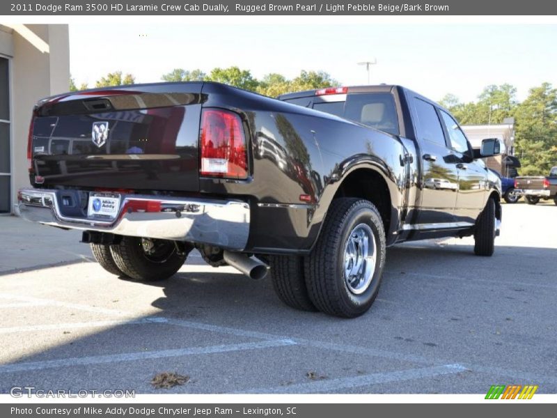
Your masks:
{"label": "glossy dark brown tailgate with chrome ram's head emblem", "polygon": [[203,83],[136,85],[43,100],[31,183],[197,192]]}

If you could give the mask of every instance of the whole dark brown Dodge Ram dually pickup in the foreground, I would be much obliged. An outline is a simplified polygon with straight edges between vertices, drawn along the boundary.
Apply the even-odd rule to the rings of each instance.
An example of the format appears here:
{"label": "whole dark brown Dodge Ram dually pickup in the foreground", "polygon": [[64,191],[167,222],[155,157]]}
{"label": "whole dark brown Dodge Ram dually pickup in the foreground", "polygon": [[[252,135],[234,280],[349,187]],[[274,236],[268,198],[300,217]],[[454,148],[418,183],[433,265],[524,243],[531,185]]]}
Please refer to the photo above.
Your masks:
{"label": "whole dark brown Dodge Ram dually pickup in the foreground", "polygon": [[500,182],[477,158],[498,146],[474,152],[453,116],[400,86],[283,101],[212,82],[100,88],[33,109],[17,211],[82,230],[120,277],[166,279],[196,248],[253,278],[269,264],[291,307],[354,317],[386,247],[473,235],[492,255]]}

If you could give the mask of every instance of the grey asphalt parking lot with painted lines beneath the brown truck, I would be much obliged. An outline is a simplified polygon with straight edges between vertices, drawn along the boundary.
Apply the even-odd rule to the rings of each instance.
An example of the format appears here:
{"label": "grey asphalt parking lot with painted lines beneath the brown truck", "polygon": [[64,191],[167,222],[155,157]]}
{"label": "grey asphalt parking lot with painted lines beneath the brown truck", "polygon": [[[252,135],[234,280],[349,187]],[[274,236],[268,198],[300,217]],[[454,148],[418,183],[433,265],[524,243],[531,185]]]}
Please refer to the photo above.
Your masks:
{"label": "grey asphalt parking lot with painted lines beneath the brown truck", "polygon": [[[389,249],[377,301],[352,320],[285,307],[191,254],[168,281],[125,281],[80,234],[0,217],[0,393],[557,393],[557,206],[503,206],[491,258],[472,240]],[[189,381],[155,389],[171,371]]]}

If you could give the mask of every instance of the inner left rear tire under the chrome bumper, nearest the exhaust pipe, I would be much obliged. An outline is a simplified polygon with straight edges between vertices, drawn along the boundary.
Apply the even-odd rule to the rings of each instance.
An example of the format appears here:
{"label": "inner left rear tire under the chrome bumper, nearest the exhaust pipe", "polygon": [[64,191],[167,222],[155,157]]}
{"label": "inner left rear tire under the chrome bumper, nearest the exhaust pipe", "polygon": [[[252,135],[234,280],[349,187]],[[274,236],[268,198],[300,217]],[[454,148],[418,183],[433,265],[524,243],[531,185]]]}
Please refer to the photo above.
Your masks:
{"label": "inner left rear tire under the chrome bumper, nearest the exhaust pipe", "polygon": [[110,246],[116,266],[137,281],[168,279],[180,270],[191,251],[189,245],[185,245],[184,251],[178,251],[174,241],[152,240],[155,250],[148,254],[143,249],[142,239],[124,237],[120,244]]}

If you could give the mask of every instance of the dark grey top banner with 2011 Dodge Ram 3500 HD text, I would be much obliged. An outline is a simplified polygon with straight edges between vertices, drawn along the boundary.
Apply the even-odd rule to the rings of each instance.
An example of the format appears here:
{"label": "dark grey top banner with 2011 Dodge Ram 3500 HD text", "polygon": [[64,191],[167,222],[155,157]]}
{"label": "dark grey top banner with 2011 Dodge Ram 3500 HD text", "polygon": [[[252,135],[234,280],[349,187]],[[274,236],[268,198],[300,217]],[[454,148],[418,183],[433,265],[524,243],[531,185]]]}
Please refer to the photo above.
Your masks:
{"label": "dark grey top banner with 2011 Dodge Ram 3500 HD text", "polygon": [[7,0],[1,15],[557,15],[548,0]]}

